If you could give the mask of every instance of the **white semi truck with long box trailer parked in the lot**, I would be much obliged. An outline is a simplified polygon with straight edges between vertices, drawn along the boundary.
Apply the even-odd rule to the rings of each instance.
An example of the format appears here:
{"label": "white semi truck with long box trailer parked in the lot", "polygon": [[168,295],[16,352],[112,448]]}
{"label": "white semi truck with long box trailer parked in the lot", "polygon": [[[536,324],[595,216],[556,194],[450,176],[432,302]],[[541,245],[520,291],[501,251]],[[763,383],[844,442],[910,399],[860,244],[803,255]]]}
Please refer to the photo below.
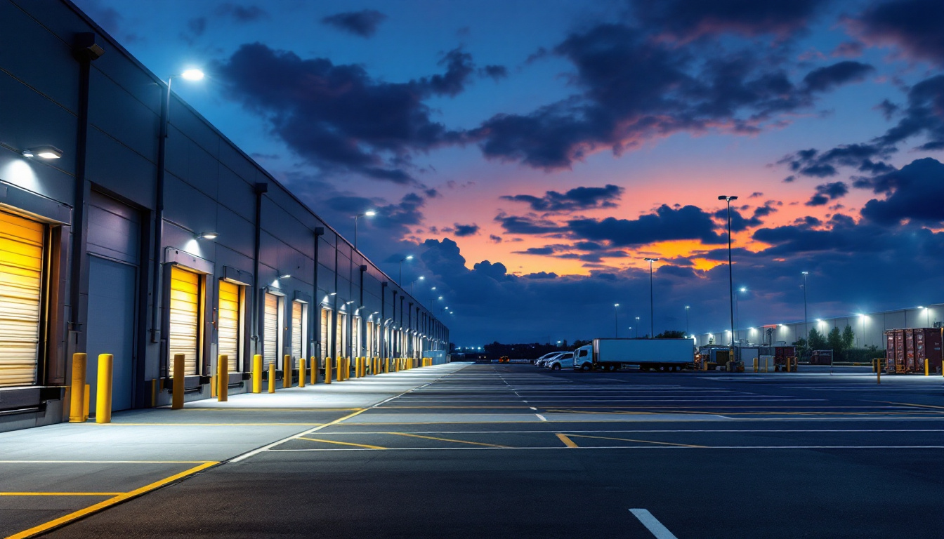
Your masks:
{"label": "white semi truck with long box trailer parked in the lot", "polygon": [[574,350],[574,369],[615,371],[624,365],[640,370],[677,371],[695,366],[692,339],[594,339]]}

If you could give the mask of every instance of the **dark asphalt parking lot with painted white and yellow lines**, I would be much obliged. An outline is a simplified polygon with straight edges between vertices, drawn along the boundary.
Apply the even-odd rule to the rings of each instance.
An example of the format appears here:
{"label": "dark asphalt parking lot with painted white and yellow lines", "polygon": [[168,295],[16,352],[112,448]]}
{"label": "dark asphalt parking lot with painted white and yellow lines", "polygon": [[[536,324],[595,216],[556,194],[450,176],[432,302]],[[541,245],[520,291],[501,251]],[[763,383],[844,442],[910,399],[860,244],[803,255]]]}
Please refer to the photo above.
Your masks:
{"label": "dark asphalt parking lot with painted white and yellow lines", "polygon": [[944,379],[807,370],[452,368],[48,536],[944,536]]}

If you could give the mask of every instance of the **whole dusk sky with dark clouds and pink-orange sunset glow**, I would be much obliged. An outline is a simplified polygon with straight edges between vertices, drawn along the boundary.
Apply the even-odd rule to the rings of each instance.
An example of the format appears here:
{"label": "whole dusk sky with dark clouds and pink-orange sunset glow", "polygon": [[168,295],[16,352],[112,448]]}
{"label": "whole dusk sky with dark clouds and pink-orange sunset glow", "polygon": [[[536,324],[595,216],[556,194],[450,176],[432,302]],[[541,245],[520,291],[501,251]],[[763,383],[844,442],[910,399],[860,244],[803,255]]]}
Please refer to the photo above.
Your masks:
{"label": "whole dusk sky with dark clouds and pink-orange sunset glow", "polygon": [[74,1],[457,345],[728,327],[719,194],[741,327],[944,301],[940,0]]}

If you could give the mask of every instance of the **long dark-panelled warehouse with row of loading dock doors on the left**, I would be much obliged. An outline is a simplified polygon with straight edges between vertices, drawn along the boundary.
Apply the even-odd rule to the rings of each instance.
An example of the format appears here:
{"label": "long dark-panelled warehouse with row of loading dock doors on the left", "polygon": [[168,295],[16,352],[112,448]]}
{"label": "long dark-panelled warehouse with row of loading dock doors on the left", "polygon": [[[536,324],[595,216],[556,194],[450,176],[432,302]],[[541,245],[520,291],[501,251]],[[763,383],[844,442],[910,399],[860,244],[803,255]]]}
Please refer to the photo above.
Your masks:
{"label": "long dark-panelled warehouse with row of loading dock doors on the left", "polygon": [[[68,1],[0,0],[0,430],[63,420],[71,358],[112,409],[220,355],[420,358],[448,328]],[[170,78],[173,82],[175,78]],[[445,357],[445,356],[444,356]],[[281,379],[281,376],[278,377]]]}

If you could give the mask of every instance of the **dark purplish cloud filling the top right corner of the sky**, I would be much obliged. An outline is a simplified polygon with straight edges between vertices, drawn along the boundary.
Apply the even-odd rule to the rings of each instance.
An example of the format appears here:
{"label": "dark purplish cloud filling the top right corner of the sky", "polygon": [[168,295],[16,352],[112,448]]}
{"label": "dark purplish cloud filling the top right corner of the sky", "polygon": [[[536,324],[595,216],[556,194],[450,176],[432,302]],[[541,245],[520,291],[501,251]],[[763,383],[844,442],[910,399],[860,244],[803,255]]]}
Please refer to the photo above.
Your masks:
{"label": "dark purplish cloud filling the top right corner of the sky", "polygon": [[877,2],[849,23],[869,44],[895,44],[913,59],[944,64],[944,4],[940,0]]}

